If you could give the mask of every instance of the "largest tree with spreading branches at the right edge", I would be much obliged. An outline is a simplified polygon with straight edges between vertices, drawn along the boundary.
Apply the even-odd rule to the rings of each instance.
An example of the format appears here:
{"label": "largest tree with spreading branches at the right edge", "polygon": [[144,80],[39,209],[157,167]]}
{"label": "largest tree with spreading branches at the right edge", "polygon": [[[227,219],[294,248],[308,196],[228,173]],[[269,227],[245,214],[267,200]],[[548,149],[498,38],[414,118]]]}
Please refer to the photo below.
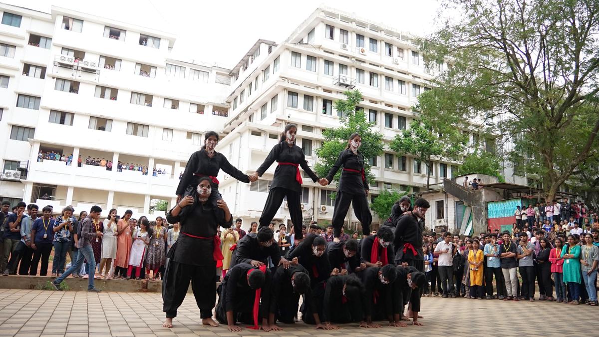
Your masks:
{"label": "largest tree with spreading branches at the right edge", "polygon": [[[446,0],[461,19],[418,41],[427,67],[450,60],[419,97],[431,123],[489,125],[525,157],[546,199],[598,157],[599,5],[592,0]],[[446,19],[446,18],[441,18]],[[473,124],[474,123],[474,124]],[[597,169],[595,174],[597,176]]]}

